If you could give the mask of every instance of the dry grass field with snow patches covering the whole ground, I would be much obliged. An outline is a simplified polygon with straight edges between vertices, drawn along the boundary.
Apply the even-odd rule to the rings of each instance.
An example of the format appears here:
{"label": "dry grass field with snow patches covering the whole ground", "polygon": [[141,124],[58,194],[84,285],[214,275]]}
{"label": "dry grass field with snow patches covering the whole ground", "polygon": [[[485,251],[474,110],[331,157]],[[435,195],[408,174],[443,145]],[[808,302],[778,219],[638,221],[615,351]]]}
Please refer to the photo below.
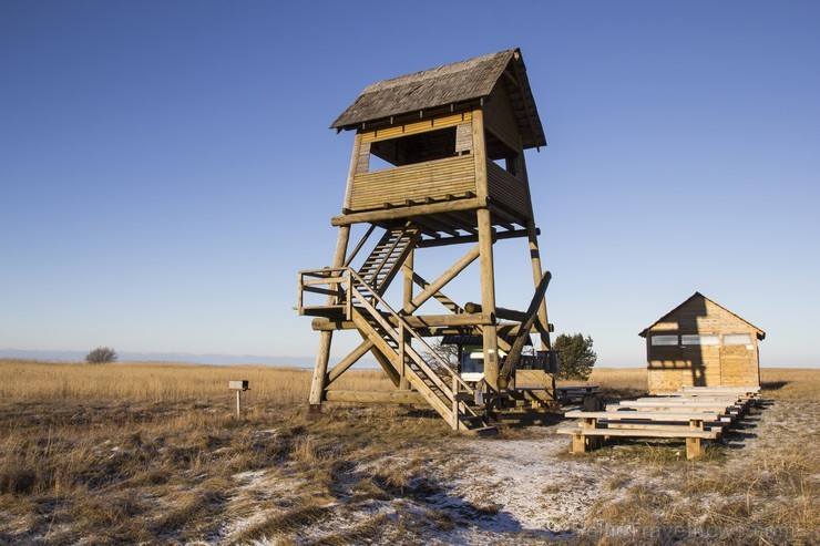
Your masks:
{"label": "dry grass field with snow patches covering the whole ground", "polygon": [[[820,370],[707,455],[583,455],[545,425],[453,434],[430,412],[328,405],[310,372],[0,360],[0,544],[817,544]],[[230,379],[247,379],[236,419]],[[388,389],[353,371],[339,389]],[[609,396],[643,370],[596,370]]]}

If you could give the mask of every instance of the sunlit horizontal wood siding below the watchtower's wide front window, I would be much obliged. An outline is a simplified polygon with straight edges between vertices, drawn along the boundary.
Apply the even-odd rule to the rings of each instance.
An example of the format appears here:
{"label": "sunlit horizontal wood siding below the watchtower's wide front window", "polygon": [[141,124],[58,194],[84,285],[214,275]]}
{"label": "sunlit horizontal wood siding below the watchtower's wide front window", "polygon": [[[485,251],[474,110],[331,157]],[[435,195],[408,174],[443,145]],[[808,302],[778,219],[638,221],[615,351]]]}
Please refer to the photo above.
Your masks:
{"label": "sunlit horizontal wood siding below the watchtower's wide front window", "polygon": [[386,168],[353,176],[350,209],[373,210],[404,206],[408,199],[444,200],[448,195],[475,194],[475,168],[471,155]]}

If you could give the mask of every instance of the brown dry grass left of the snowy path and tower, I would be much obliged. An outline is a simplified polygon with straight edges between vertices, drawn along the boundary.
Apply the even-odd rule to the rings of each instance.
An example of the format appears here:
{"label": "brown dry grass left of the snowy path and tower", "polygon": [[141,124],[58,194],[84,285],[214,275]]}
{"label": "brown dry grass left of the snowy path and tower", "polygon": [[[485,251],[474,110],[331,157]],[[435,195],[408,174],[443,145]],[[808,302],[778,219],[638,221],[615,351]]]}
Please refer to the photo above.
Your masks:
{"label": "brown dry grass left of the snowy path and tower", "polygon": [[[409,439],[449,436],[440,419],[401,408],[337,404],[308,420],[307,370],[0,360],[0,544],[286,543],[335,517],[327,505],[340,496],[401,495],[396,483],[412,482],[428,454]],[[250,381],[242,419],[230,379]],[[339,388],[386,383],[380,372],[352,371]],[[247,472],[303,485],[280,506],[243,493]],[[258,513],[267,515],[224,528]],[[381,532],[365,522],[351,536]]]}

